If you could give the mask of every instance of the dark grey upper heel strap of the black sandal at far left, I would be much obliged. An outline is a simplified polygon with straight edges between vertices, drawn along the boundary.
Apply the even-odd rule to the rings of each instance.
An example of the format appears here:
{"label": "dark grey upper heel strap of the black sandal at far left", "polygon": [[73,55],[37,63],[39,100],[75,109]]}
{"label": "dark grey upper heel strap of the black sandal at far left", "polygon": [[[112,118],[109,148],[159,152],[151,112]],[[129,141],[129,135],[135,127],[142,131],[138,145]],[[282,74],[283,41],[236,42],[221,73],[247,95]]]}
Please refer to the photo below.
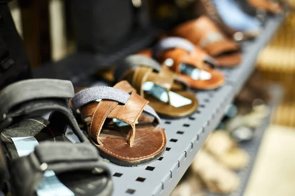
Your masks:
{"label": "dark grey upper heel strap of the black sandal at far left", "polygon": [[59,79],[29,79],[13,83],[0,92],[0,112],[6,114],[12,107],[40,98],[72,98],[71,81]]}

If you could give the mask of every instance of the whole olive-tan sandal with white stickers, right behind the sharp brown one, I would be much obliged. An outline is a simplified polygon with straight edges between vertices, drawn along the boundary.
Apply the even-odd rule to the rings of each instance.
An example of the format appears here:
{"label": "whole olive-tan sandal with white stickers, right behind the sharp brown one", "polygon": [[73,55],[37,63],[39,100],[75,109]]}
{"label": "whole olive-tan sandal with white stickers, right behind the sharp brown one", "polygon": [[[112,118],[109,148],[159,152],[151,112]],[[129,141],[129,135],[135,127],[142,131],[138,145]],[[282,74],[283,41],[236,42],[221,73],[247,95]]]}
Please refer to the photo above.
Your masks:
{"label": "whole olive-tan sandal with white stickers, right behind the sharp brown one", "polygon": [[183,118],[198,109],[195,93],[177,80],[174,72],[146,56],[134,54],[126,57],[119,63],[115,78],[129,81],[161,117]]}

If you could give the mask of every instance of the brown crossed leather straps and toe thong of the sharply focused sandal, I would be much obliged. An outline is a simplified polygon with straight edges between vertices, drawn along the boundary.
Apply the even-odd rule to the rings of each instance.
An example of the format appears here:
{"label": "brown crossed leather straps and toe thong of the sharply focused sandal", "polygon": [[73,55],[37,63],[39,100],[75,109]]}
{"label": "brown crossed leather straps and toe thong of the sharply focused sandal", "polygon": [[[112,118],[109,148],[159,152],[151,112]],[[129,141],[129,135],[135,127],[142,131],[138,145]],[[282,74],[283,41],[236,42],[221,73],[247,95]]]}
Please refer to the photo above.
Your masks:
{"label": "brown crossed leather straps and toe thong of the sharply focused sandal", "polygon": [[[128,139],[128,145],[132,147],[135,137],[135,123],[142,114],[148,100],[136,94],[135,89],[127,82],[121,81],[114,86],[125,93],[131,93],[130,98],[124,105],[119,105],[117,101],[101,100],[100,102],[91,102],[81,108],[82,118],[85,120],[91,117],[89,125],[90,140],[103,146],[99,140],[99,134],[106,119],[118,119],[129,124],[132,129]],[[93,141],[96,139],[96,142]]]}

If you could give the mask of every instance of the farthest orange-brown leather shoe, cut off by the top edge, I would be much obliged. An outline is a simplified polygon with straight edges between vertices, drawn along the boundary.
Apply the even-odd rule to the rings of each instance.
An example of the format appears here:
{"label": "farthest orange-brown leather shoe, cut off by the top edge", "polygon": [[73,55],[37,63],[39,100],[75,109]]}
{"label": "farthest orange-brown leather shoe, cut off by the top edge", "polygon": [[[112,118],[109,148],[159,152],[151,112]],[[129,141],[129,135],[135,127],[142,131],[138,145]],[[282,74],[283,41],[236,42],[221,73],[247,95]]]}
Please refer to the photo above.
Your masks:
{"label": "farthest orange-brown leather shoe, cut off by the top edge", "polygon": [[247,0],[256,9],[265,9],[267,12],[272,14],[281,13],[282,7],[279,2],[274,2],[271,0]]}

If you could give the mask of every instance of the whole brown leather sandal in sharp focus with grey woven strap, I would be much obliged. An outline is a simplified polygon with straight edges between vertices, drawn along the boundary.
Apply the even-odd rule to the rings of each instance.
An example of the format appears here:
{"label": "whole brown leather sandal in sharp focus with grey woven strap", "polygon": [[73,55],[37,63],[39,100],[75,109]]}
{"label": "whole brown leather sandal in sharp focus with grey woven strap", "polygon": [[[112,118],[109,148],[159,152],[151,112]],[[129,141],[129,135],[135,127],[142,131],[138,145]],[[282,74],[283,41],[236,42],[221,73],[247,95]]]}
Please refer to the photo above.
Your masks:
{"label": "whole brown leather sandal in sharp focus with grey woven strap", "polygon": [[166,134],[158,115],[127,81],[84,89],[71,102],[88,126],[90,142],[112,163],[139,166],[164,153]]}

